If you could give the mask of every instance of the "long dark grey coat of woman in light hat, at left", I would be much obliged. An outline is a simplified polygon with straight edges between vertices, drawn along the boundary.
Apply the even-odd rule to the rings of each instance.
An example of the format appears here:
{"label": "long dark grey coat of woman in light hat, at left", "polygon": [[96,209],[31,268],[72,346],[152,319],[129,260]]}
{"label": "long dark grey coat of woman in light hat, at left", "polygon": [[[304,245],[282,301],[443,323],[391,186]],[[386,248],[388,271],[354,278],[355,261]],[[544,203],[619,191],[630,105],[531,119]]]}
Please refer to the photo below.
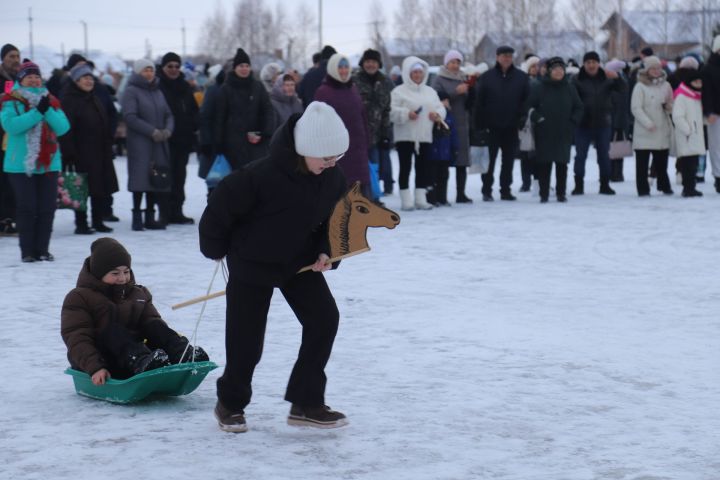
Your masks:
{"label": "long dark grey coat of woman in light hat, at left", "polygon": [[157,77],[148,82],[133,73],[120,104],[127,125],[128,190],[161,191],[150,185],[150,167],[154,164],[169,168],[170,150],[167,141],[154,142],[152,132],[155,129],[172,132],[175,123]]}

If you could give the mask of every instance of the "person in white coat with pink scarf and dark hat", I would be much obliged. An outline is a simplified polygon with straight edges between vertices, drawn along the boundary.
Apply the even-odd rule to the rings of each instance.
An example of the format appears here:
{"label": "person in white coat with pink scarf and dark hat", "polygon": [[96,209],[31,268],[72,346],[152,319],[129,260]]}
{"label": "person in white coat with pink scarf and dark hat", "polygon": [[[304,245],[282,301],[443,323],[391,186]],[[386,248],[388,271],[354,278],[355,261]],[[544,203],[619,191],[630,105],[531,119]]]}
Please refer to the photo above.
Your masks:
{"label": "person in white coat with pink scarf and dark hat", "polygon": [[700,72],[691,71],[675,90],[673,123],[675,146],[680,172],[683,177],[683,197],[701,197],[695,189],[695,175],[700,155],[705,155],[703,135],[702,79]]}

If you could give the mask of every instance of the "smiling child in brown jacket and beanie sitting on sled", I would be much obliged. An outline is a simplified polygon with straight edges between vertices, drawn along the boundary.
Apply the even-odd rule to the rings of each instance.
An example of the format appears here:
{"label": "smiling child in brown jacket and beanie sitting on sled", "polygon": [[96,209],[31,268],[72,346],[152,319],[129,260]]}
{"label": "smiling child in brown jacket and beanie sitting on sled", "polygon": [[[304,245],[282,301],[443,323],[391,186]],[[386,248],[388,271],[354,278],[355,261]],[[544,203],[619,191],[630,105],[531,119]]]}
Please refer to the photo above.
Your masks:
{"label": "smiling child in brown jacket and beanie sitting on sled", "polygon": [[60,332],[70,365],[89,374],[95,385],[209,360],[163,321],[148,289],[135,283],[130,254],[109,237],[90,246],[77,286],[63,302]]}

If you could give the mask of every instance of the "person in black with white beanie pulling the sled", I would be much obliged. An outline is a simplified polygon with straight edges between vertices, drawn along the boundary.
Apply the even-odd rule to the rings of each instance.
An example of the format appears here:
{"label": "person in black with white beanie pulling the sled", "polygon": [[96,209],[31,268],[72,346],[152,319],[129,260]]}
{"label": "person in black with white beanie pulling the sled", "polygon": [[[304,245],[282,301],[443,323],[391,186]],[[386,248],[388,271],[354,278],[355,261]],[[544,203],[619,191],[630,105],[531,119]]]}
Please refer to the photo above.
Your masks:
{"label": "person in black with white beanie pulling the sled", "polygon": [[[200,220],[200,250],[227,257],[226,366],[217,382],[215,417],[222,430],[247,430],[244,409],[260,361],[267,313],[279,288],[303,326],[302,344],[285,399],[288,423],[339,427],[345,415],[325,404],[325,365],[339,313],[323,277],[328,263],[328,219],[345,192],[333,168],[350,138],[327,104],[293,114],[272,139],[268,158],[225,177]],[[297,273],[305,265],[312,270]]]}

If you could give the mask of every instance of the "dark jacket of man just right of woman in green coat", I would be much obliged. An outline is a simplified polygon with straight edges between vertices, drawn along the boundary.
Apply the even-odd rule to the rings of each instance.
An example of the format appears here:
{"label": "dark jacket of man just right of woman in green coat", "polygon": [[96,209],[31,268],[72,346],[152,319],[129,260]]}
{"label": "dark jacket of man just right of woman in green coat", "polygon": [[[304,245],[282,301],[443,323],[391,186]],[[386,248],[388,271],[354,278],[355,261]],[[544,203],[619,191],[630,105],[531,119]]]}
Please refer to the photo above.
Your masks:
{"label": "dark jacket of man just right of woman in green coat", "polygon": [[591,77],[585,72],[585,67],[580,68],[572,79],[573,86],[577,89],[580,100],[585,110],[583,119],[580,122],[582,128],[607,128],[612,126],[613,93],[620,92],[625,85],[622,77],[610,79],[601,68],[597,75]]}

